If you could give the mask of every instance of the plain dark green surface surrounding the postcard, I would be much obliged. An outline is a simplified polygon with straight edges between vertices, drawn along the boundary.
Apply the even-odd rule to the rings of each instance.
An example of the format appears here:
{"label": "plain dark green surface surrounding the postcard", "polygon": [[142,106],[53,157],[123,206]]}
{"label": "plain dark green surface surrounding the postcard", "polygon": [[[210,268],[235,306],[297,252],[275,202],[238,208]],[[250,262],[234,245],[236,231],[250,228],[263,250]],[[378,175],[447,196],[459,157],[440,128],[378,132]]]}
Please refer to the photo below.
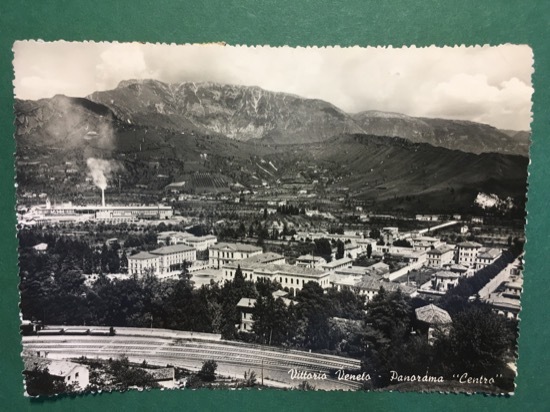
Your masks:
{"label": "plain dark green surface surrounding the postcard", "polygon": [[[0,4],[0,410],[550,410],[550,2],[547,1],[81,1]],[[519,377],[512,397],[457,394],[151,391],[33,401],[19,358],[12,44],[15,40],[228,44],[529,44],[534,122]]]}

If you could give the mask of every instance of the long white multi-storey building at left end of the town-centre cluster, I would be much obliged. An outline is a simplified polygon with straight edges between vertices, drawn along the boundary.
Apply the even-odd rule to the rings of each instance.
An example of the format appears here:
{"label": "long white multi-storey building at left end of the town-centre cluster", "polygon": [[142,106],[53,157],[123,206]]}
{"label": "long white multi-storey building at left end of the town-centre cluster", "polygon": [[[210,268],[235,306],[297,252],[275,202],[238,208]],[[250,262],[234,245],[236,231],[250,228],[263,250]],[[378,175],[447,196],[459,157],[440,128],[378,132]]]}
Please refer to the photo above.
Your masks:
{"label": "long white multi-storey building at left end of the town-centre cluster", "polygon": [[128,257],[128,272],[142,275],[151,272],[155,275],[181,270],[183,262],[197,260],[197,251],[187,245],[164,246],[150,252],[140,252]]}

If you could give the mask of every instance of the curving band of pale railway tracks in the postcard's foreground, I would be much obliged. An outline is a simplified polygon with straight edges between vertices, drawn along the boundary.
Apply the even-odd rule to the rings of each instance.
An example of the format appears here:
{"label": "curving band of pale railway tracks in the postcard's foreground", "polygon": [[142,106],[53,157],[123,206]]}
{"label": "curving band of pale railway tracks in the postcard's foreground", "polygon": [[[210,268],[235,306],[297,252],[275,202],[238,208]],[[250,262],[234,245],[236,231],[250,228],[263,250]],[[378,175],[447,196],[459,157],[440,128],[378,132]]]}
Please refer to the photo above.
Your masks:
{"label": "curving band of pale railway tracks in the postcard's foreground", "polygon": [[[284,350],[261,345],[247,345],[230,341],[195,341],[171,337],[139,336],[79,336],[40,335],[24,336],[23,349],[46,354],[52,358],[116,358],[125,355],[148,363],[197,365],[215,360],[220,365],[239,368],[258,368],[286,375],[291,369],[311,373],[325,373],[335,380],[337,370],[358,370],[360,361],[332,355]],[[357,382],[338,382],[342,387],[358,388]]]}

